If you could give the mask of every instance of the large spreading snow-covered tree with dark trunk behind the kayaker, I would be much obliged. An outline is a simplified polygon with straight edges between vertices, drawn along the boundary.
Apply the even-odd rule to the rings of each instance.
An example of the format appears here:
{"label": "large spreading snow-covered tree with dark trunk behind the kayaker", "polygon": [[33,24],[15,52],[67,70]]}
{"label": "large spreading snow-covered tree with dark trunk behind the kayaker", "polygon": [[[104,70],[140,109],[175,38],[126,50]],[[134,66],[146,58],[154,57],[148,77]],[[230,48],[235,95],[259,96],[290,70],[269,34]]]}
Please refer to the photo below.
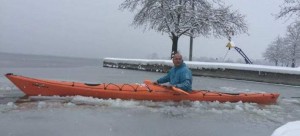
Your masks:
{"label": "large spreading snow-covered tree with dark trunk behind the kayaker", "polygon": [[180,36],[228,37],[247,32],[244,16],[231,11],[221,0],[125,0],[120,9],[136,11],[133,25],[168,33],[172,52],[177,52]]}

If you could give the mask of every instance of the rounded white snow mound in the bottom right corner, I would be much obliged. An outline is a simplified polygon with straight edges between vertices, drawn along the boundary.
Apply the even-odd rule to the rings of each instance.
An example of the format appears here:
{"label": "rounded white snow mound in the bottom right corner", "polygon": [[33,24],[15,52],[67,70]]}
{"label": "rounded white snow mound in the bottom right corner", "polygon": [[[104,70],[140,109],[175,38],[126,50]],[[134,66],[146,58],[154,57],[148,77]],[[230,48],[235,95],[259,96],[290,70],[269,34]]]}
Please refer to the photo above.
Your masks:
{"label": "rounded white snow mound in the bottom right corner", "polygon": [[277,128],[272,136],[300,136],[300,121],[286,123]]}

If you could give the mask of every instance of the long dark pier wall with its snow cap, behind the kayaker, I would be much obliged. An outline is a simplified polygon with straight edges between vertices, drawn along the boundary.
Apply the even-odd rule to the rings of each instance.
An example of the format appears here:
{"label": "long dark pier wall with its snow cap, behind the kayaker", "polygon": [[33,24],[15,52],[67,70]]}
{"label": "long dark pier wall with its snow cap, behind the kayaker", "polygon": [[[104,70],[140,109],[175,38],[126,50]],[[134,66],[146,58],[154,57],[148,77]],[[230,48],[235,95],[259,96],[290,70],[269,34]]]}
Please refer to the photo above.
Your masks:
{"label": "long dark pier wall with its snow cap, behind the kayaker", "polygon": [[[300,86],[300,68],[185,61],[194,76],[208,76]],[[104,58],[103,67],[166,72],[171,60]]]}

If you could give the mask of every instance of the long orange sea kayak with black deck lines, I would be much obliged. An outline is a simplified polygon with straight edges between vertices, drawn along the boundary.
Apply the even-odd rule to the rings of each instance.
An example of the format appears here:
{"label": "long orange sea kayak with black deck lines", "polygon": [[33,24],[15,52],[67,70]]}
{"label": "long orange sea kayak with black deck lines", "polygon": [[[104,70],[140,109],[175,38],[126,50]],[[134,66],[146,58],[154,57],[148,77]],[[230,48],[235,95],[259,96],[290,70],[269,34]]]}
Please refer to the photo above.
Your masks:
{"label": "long orange sea kayak with black deck lines", "polygon": [[194,90],[187,93],[179,88],[166,87],[145,81],[144,84],[87,84],[24,77],[8,73],[5,75],[28,96],[88,96],[103,99],[134,99],[150,101],[219,101],[274,104],[278,93],[222,93]]}

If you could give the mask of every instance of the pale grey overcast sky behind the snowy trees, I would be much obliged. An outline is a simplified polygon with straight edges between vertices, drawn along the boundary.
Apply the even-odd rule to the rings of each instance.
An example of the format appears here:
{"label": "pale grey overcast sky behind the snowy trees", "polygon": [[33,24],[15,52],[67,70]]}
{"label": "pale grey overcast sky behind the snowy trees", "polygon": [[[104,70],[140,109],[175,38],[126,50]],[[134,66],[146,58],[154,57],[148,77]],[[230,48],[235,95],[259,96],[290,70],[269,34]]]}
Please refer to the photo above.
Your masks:
{"label": "pale grey overcast sky behind the snowy trees", "polygon": [[[168,57],[168,34],[130,26],[133,14],[118,10],[124,0],[0,0],[0,51],[86,58],[145,58],[153,53]],[[249,36],[233,41],[250,59],[262,53],[278,35],[285,20],[275,20],[283,0],[230,0],[232,9],[246,15]],[[224,57],[227,39],[197,37],[194,57]],[[179,39],[179,50],[188,56],[189,38]],[[227,58],[240,55],[230,50]]]}

